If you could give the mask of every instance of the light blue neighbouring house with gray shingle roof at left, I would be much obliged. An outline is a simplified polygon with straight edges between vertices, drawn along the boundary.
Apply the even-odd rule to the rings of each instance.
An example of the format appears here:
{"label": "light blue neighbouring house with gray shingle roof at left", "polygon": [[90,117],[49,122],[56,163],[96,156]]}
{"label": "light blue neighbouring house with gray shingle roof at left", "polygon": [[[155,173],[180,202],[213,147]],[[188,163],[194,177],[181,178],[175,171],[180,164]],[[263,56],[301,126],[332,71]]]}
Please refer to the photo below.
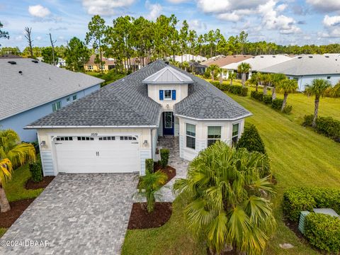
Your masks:
{"label": "light blue neighbouring house with gray shingle roof at left", "polygon": [[15,130],[26,142],[37,140],[27,123],[100,89],[103,80],[27,58],[0,60],[0,129]]}

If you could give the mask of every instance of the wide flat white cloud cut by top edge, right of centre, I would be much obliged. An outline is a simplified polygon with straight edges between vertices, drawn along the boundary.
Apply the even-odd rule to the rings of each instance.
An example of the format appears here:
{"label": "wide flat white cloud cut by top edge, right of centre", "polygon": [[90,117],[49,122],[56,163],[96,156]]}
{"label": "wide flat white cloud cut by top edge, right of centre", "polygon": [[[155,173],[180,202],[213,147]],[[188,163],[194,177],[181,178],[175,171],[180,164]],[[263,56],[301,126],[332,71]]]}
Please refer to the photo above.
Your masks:
{"label": "wide flat white cloud cut by top edge, right of centre", "polygon": [[267,0],[198,0],[197,6],[205,13],[227,13],[235,10],[254,9]]}

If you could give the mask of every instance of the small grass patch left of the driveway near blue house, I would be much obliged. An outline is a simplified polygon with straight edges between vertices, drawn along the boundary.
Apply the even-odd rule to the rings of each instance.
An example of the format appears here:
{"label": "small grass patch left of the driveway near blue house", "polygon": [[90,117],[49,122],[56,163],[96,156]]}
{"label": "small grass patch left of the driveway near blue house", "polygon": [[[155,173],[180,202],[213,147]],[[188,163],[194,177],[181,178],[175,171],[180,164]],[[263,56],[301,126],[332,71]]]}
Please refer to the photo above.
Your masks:
{"label": "small grass patch left of the driveway near blue house", "polygon": [[[12,179],[4,185],[6,196],[10,202],[26,199],[36,198],[43,191],[42,188],[36,190],[26,190],[25,183],[30,178],[30,169],[28,164],[21,166],[13,171]],[[5,234],[6,229],[0,227],[0,237]]]}

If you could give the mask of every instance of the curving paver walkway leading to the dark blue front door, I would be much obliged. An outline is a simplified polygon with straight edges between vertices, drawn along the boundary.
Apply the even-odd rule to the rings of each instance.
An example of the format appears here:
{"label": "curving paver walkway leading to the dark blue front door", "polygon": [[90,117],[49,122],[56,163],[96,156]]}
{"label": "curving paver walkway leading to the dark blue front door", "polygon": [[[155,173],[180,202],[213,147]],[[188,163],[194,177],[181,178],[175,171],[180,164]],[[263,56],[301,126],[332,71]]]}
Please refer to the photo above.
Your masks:
{"label": "curving paver walkway leading to the dark blue front door", "polygon": [[175,199],[172,186],[174,186],[176,179],[186,178],[189,162],[179,157],[179,137],[159,137],[158,141],[159,149],[166,148],[170,150],[169,166],[176,169],[176,176],[159,190],[161,196],[157,198],[157,201],[172,202]]}

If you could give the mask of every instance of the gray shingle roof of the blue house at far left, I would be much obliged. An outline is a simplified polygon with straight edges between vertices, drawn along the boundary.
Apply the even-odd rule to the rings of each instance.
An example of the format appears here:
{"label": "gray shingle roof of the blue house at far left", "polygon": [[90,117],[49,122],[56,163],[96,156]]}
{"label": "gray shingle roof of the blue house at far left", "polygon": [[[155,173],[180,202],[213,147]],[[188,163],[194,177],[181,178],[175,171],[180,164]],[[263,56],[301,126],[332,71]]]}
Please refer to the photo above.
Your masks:
{"label": "gray shingle roof of the blue house at far left", "polygon": [[0,120],[103,82],[27,58],[1,59],[0,73]]}

